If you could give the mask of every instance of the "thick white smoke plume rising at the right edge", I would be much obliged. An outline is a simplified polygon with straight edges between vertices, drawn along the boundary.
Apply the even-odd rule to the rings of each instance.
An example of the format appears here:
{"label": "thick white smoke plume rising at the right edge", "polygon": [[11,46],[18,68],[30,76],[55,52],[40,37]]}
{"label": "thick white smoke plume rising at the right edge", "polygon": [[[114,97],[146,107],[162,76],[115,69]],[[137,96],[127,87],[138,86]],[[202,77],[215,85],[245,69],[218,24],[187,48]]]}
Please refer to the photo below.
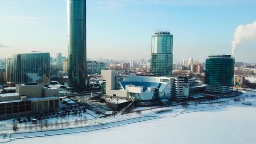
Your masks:
{"label": "thick white smoke plume rising at the right edge", "polygon": [[254,37],[256,37],[256,21],[252,24],[239,25],[235,30],[234,40],[232,41],[232,55],[234,55],[237,45]]}

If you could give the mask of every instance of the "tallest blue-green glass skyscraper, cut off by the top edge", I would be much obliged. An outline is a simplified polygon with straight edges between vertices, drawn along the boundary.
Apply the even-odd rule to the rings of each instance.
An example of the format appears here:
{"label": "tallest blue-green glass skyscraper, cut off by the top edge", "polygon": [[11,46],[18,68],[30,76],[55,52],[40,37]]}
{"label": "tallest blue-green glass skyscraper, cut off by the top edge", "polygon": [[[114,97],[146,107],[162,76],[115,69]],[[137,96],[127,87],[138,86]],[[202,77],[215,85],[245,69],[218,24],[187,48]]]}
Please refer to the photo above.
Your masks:
{"label": "tallest blue-green glass skyscraper, cut off by the top edge", "polygon": [[84,89],[86,82],[86,0],[67,0],[68,86]]}

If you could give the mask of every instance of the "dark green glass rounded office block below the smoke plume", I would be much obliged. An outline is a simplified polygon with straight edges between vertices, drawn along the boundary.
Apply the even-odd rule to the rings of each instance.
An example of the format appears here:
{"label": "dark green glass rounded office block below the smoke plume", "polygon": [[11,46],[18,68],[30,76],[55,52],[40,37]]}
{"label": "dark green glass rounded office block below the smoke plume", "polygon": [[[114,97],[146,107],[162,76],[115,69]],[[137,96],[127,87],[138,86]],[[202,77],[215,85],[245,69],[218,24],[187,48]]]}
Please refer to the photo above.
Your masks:
{"label": "dark green glass rounded office block below the smoke plume", "polygon": [[231,55],[212,55],[206,59],[206,91],[228,93],[234,85],[235,58]]}

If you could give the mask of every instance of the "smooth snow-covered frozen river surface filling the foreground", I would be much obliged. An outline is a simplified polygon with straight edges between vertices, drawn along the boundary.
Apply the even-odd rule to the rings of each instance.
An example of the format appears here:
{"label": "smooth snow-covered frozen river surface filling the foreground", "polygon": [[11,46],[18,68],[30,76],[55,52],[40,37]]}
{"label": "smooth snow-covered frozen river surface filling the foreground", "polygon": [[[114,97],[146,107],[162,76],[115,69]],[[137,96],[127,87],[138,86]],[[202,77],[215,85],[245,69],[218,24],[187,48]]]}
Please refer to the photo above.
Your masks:
{"label": "smooth snow-covered frozen river surface filling the foreground", "polygon": [[[244,144],[255,141],[256,112],[253,107],[237,105],[223,109],[191,112],[176,117],[133,123],[84,133],[37,137],[11,141],[23,144]],[[113,137],[114,136],[114,137]]]}

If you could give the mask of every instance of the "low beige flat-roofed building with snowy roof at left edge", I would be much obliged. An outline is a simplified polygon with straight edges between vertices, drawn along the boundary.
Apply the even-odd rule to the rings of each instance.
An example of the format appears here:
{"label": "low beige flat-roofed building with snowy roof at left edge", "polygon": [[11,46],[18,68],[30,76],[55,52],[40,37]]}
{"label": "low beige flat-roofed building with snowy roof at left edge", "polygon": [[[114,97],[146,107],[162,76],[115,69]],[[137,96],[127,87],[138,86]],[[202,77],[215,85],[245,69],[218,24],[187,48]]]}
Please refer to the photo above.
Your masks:
{"label": "low beige flat-roofed building with snowy roof at left edge", "polygon": [[37,83],[17,84],[15,93],[0,94],[0,120],[58,110],[59,90]]}

